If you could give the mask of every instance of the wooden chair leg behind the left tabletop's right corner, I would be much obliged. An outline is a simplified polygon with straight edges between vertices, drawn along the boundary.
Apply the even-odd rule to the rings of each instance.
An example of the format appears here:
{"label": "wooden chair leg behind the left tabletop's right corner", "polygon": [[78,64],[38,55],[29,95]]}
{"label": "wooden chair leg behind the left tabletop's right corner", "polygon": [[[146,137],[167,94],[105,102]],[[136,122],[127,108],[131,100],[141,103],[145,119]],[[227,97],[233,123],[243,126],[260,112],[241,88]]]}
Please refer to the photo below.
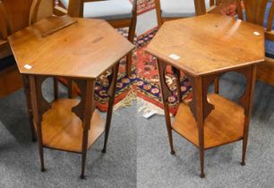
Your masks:
{"label": "wooden chair leg behind the left tabletop's right corner", "polygon": [[[133,20],[129,27],[128,40],[134,42],[135,30],[136,30],[137,15],[133,15]],[[126,75],[130,76],[132,73],[133,65],[133,52],[130,52],[126,57]]]}

